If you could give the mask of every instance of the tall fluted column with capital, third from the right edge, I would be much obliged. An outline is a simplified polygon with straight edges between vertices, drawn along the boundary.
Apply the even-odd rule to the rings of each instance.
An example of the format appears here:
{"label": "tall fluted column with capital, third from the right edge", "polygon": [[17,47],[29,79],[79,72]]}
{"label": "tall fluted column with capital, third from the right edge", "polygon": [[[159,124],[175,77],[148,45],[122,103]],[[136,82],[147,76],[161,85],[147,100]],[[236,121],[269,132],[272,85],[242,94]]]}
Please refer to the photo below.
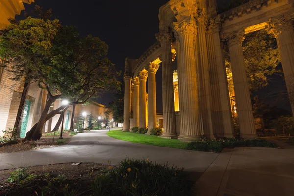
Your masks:
{"label": "tall fluted column with capital, third from the right edge", "polygon": [[213,25],[209,26],[208,29],[206,41],[211,74],[214,133],[218,138],[233,137],[233,121],[230,109],[228,81],[219,35],[220,21],[214,21]]}

